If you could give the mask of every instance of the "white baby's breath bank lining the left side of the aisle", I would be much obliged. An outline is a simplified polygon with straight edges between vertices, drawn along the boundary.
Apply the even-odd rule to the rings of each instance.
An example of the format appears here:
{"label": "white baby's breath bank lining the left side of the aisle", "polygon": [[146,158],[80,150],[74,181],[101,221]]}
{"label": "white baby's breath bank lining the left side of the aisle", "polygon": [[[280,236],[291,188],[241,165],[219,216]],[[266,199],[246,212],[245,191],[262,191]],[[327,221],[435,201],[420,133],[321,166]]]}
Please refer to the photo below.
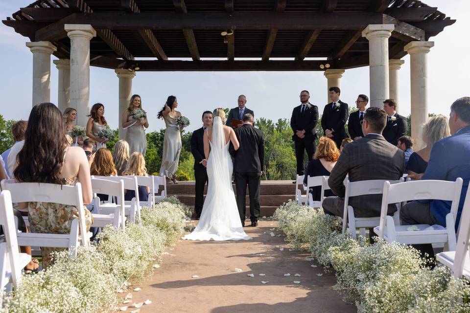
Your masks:
{"label": "white baby's breath bank lining the left side of the aisle", "polygon": [[99,243],[79,247],[75,258],[56,253],[55,262],[3,296],[1,313],[94,313],[112,311],[124,281],[140,280],[149,264],[159,260],[165,244],[184,230],[184,207],[177,199],[141,210],[140,224],[125,231],[103,228]]}

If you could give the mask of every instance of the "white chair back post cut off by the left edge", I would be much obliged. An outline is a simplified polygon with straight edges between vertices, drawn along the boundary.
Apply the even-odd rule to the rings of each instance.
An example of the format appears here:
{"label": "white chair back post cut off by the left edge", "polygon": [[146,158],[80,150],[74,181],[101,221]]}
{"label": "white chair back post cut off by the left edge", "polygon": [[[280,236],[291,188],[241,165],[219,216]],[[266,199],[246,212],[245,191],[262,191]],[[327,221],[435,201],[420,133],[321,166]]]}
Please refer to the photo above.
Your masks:
{"label": "white chair back post cut off by the left edge", "polygon": [[[21,279],[21,270],[19,255],[18,255],[18,239],[16,238],[16,226],[13,219],[13,206],[11,202],[11,194],[8,190],[2,191],[0,194],[0,225],[3,228],[3,233],[5,234],[6,243],[4,246],[5,252],[8,255],[9,263],[11,267],[11,278],[13,285],[16,287],[18,282]],[[3,258],[3,255],[0,255]],[[6,261],[5,259],[3,262]],[[3,270],[1,268],[3,278]],[[2,284],[3,285],[3,284]],[[0,291],[3,291],[4,286],[0,286]]]}

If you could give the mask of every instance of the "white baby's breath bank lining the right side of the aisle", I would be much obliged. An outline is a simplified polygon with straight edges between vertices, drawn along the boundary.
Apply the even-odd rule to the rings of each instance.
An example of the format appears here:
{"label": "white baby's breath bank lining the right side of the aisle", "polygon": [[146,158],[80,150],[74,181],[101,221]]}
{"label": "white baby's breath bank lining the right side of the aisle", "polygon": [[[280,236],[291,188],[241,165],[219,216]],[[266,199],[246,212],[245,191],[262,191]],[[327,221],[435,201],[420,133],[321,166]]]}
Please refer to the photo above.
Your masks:
{"label": "white baby's breath bank lining the right side of the aisle", "polygon": [[341,233],[341,219],[295,201],[274,217],[292,246],[309,246],[318,263],[336,270],[335,288],[360,313],[469,313],[470,281],[448,268],[433,270],[411,246]]}

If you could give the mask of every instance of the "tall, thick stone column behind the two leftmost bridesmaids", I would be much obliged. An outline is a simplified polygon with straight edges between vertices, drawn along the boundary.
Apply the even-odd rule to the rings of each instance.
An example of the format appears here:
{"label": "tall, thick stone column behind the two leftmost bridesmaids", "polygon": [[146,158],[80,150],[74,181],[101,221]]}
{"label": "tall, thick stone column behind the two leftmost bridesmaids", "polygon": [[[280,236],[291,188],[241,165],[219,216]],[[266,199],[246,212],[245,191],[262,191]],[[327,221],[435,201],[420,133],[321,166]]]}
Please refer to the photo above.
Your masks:
{"label": "tall, thick stone column behind the two leftmost bridesmaids", "polygon": [[65,24],[70,38],[70,107],[77,110],[77,125],[86,126],[90,113],[90,40],[92,25]]}

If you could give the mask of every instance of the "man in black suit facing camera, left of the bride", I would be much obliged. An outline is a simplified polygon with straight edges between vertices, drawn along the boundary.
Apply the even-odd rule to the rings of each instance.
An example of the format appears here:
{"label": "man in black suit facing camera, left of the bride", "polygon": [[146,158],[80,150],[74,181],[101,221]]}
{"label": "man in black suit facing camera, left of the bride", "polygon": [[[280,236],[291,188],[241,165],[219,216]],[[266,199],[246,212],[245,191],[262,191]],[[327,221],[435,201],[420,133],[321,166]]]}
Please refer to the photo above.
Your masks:
{"label": "man in black suit facing camera, left of the bride", "polygon": [[191,153],[194,156],[194,178],[196,179],[194,210],[196,211],[196,220],[201,217],[202,207],[204,205],[204,186],[208,182],[207,178],[207,160],[204,155],[204,132],[206,128],[212,125],[212,112],[202,113],[203,127],[195,130],[191,136]]}

